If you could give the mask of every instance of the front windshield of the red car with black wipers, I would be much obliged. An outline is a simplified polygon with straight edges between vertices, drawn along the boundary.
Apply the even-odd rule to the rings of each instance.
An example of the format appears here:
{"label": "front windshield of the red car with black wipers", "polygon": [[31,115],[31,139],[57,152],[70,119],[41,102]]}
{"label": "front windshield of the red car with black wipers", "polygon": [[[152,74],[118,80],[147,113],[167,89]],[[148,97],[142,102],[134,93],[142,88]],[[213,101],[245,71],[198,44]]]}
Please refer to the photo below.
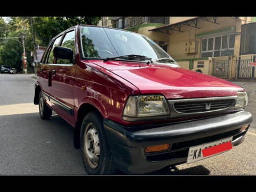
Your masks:
{"label": "front windshield of the red car with black wipers", "polygon": [[140,34],[111,28],[82,26],[80,38],[84,58],[136,54],[150,57],[152,60],[169,58],[164,63],[173,63],[171,61],[173,59],[160,46]]}

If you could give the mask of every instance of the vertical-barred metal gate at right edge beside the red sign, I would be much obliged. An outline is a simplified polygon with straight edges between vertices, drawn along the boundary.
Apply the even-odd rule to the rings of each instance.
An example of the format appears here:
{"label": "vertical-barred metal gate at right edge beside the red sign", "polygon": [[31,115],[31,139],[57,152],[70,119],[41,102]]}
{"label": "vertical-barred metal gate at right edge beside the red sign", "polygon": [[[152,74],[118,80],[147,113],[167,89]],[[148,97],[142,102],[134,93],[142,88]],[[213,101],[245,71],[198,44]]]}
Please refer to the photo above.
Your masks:
{"label": "vertical-barred metal gate at right edge beside the red sign", "polygon": [[255,79],[255,66],[249,66],[250,62],[255,61],[255,56],[251,59],[241,59],[239,57],[236,60],[236,74],[238,79]]}

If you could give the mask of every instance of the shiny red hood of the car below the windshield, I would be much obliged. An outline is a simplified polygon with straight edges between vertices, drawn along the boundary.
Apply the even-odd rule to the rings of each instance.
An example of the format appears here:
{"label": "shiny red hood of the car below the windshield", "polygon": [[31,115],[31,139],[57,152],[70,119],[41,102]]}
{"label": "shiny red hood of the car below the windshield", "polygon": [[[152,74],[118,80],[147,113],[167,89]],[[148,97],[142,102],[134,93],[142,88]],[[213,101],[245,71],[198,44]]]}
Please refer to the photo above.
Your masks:
{"label": "shiny red hood of the car below the windshield", "polygon": [[244,91],[226,80],[170,64],[92,62],[132,83],[141,94],[163,94],[167,99],[235,96],[238,91]]}

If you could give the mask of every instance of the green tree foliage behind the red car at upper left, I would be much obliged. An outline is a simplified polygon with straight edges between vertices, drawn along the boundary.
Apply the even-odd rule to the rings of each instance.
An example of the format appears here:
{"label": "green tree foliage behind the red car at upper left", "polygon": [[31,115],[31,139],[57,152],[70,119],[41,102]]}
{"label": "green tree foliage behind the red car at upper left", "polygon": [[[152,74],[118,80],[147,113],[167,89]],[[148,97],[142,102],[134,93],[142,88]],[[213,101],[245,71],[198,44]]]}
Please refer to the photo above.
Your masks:
{"label": "green tree foliage behind the red car at upper left", "polygon": [[[97,25],[100,19],[101,17],[33,17],[36,44],[47,46],[50,40],[60,32],[77,24]],[[25,35],[28,66],[31,65],[32,58],[30,54],[34,50],[31,33],[32,28],[28,17],[11,17],[8,24],[0,17],[0,38]],[[0,40],[0,65],[9,65],[20,71],[22,69],[23,48],[18,41],[22,42],[21,38]]]}

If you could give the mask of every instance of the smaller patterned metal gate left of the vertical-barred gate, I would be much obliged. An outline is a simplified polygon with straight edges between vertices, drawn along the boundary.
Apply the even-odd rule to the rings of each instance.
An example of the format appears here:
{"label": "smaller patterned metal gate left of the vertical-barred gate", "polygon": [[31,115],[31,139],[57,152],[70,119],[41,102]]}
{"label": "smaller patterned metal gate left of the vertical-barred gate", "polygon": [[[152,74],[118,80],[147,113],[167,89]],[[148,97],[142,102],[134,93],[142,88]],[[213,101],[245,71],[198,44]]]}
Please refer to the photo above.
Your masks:
{"label": "smaller patterned metal gate left of the vertical-barred gate", "polygon": [[216,76],[222,79],[229,78],[229,66],[230,66],[230,59],[228,60],[215,60],[212,59],[212,76]]}

